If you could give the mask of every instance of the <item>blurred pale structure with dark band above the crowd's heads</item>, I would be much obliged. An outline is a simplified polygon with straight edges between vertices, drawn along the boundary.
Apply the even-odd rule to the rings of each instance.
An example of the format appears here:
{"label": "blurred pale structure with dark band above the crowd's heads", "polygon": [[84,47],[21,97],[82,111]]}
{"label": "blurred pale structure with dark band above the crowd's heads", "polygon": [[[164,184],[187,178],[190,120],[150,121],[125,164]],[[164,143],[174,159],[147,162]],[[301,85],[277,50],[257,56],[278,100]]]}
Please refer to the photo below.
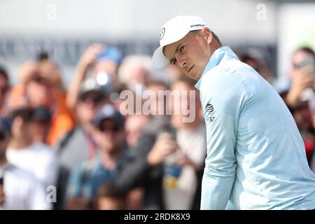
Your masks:
{"label": "blurred pale structure with dark band above the crowd's heads", "polygon": [[[314,1],[0,1],[0,59],[10,74],[46,50],[69,83],[89,43],[113,43],[124,55],[158,46],[160,27],[176,15],[200,15],[225,45],[261,48],[274,74],[283,75],[290,52],[314,43]],[[16,77],[12,76],[15,83]]]}

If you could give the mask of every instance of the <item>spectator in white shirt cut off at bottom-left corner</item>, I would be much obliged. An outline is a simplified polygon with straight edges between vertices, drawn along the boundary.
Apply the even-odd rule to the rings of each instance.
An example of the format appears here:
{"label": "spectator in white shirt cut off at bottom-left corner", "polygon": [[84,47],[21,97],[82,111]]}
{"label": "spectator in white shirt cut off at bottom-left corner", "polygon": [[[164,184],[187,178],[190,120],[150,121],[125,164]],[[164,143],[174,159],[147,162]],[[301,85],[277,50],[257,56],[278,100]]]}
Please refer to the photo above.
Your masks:
{"label": "spectator in white shirt cut off at bottom-left corner", "polygon": [[6,160],[9,141],[10,121],[0,117],[0,210],[51,209],[38,179]]}

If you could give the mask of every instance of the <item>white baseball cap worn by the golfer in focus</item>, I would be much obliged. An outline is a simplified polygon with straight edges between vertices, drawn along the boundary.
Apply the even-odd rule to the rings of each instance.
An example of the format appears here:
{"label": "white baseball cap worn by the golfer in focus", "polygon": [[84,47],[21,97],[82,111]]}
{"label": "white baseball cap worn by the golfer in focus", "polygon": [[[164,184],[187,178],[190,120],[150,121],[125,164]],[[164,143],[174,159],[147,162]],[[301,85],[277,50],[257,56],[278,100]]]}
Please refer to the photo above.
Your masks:
{"label": "white baseball cap worn by the golfer in focus", "polygon": [[186,34],[193,30],[203,29],[208,26],[202,18],[195,15],[179,15],[165,23],[160,31],[160,47],[153,54],[153,65],[161,69],[169,64],[169,59],[164,55],[165,45],[181,40]]}

